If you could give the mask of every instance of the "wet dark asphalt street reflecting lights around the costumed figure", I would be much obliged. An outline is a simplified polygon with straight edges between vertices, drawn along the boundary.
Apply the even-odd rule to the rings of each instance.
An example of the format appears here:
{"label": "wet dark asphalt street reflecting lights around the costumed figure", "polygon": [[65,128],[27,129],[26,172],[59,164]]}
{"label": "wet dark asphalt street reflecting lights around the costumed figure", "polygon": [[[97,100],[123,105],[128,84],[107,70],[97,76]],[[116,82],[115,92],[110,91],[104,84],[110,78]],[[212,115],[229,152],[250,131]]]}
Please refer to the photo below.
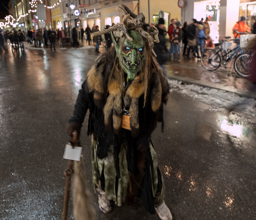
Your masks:
{"label": "wet dark asphalt street reflecting lights around the costumed figure", "polygon": [[[0,219],[61,219],[65,126],[95,58],[94,49],[0,55]],[[255,219],[255,119],[213,108],[171,93],[165,133],[159,125],[153,134],[166,204],[176,220]],[[82,154],[97,219],[159,219],[140,202],[99,211],[86,128],[85,119]],[[72,219],[72,200],[69,208]]]}

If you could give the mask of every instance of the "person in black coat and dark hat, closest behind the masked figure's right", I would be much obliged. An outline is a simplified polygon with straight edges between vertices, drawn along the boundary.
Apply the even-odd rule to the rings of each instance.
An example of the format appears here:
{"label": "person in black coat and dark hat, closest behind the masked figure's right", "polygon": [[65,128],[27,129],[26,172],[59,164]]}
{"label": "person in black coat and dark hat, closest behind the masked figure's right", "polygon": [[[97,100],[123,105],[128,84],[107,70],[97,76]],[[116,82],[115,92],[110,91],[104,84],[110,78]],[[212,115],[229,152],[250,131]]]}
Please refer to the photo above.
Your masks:
{"label": "person in black coat and dark hat, closest behind the masked figure's right", "polygon": [[166,76],[164,63],[170,58],[170,54],[165,45],[165,20],[159,18],[158,24],[155,26],[158,30],[159,43],[154,43],[154,51],[157,55],[157,62],[163,69],[163,74]]}

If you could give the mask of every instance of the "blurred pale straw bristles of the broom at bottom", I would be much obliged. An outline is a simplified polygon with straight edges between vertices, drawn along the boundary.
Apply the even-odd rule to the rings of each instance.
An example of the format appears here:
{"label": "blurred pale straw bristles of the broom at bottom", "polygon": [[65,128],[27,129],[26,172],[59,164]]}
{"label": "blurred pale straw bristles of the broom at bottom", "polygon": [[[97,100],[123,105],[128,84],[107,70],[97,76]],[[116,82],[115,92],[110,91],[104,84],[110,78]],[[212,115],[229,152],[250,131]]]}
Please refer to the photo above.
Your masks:
{"label": "blurred pale straw bristles of the broom at bottom", "polygon": [[82,156],[80,161],[75,161],[75,179],[73,183],[74,219],[94,220],[95,211],[91,206],[90,192],[86,187],[86,178],[83,170]]}

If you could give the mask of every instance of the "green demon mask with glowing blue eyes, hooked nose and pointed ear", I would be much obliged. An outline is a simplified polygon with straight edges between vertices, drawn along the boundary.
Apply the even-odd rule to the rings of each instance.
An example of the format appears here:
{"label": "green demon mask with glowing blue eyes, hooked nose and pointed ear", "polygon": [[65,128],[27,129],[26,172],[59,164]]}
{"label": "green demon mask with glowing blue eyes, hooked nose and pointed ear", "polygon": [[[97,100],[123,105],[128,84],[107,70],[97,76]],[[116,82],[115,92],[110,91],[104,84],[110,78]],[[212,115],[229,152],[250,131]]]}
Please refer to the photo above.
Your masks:
{"label": "green demon mask with glowing blue eyes, hooked nose and pointed ear", "polygon": [[116,41],[116,38],[111,31],[119,63],[124,72],[127,73],[127,78],[129,80],[134,80],[143,66],[144,42],[142,35],[138,31],[131,30],[128,33],[132,38],[132,41],[128,40],[125,35]]}

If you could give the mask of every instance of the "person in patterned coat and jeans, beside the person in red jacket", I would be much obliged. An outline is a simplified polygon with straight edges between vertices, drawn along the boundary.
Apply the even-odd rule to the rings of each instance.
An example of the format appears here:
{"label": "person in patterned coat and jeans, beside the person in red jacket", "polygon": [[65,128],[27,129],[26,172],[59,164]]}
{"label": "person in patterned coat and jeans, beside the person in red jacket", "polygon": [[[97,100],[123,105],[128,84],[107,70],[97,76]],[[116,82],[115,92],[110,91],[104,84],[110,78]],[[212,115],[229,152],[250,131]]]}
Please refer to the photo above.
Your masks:
{"label": "person in patterned coat and jeans, beside the person in red jacket", "polygon": [[176,22],[173,31],[173,59],[174,61],[180,62],[180,42],[182,39],[181,23]]}

